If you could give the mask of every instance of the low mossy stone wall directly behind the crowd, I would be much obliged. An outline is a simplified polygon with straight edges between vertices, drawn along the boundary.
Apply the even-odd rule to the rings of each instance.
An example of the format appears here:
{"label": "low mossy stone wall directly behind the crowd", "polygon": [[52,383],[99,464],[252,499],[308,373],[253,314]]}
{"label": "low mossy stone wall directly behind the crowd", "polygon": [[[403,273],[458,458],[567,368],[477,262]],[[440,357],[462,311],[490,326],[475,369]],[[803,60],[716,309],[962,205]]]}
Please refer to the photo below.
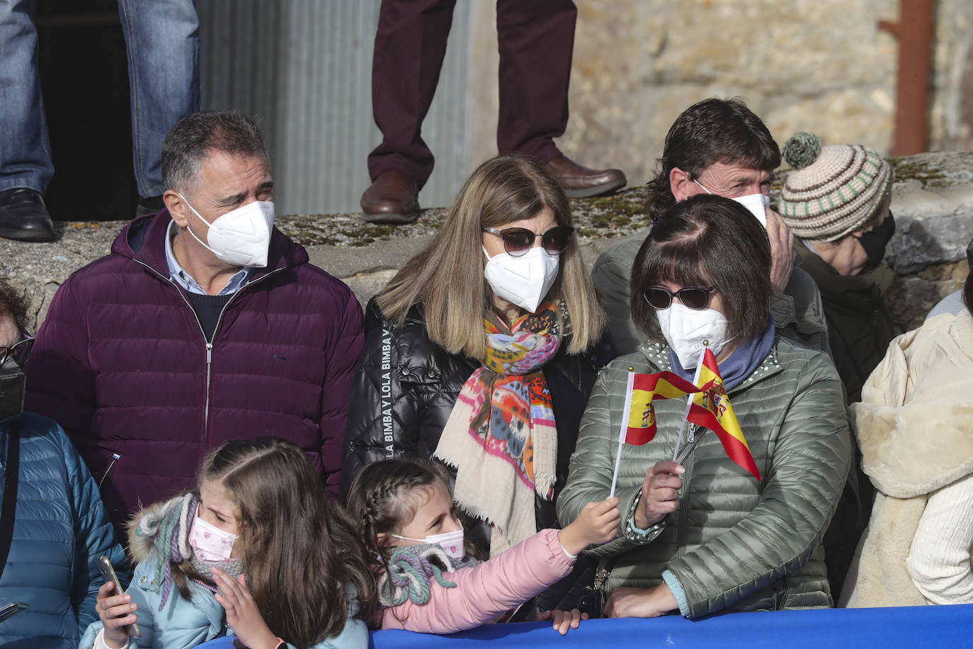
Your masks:
{"label": "low mossy stone wall directly behind the crowd", "polygon": [[[903,330],[962,285],[966,244],[973,238],[973,152],[891,159],[896,182],[891,209],[898,226],[887,259],[899,277],[887,299]],[[781,174],[779,183],[786,176]],[[644,187],[614,197],[573,201],[582,254],[589,266],[619,236],[643,231]],[[775,199],[775,198],[774,198]],[[277,225],[303,243],[311,263],[342,278],[364,305],[396,270],[425,246],[446,210],[428,209],[412,225],[363,224],[355,215],[281,216]],[[61,223],[54,243],[0,238],[2,273],[27,293],[30,328],[43,321],[64,279],[107,254],[121,222]]]}

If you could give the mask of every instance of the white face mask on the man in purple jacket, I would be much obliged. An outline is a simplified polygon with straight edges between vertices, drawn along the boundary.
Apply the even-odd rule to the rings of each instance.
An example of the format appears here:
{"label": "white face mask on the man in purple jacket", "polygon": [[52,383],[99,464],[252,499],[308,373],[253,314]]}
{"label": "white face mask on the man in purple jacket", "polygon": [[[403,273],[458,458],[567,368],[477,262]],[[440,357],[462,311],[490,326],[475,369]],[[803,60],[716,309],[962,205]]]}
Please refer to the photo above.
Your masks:
{"label": "white face mask on the man in purple jacket", "polygon": [[180,194],[179,198],[189,205],[200,221],[209,226],[209,233],[206,234],[209,245],[203,243],[192,228],[187,227],[189,234],[192,234],[201,246],[232,266],[250,268],[267,266],[270,233],[273,232],[272,200],[248,202],[210,223],[202,218],[186,197]]}

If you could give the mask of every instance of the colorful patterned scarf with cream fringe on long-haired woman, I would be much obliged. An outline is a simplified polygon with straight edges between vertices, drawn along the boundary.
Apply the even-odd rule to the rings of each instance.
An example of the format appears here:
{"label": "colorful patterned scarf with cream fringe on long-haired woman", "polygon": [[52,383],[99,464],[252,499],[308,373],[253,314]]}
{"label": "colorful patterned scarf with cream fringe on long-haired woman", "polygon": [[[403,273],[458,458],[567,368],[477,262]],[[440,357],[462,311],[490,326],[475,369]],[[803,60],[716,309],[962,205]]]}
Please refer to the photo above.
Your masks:
{"label": "colorful patterned scarf with cream fringe on long-haired woman", "polygon": [[456,469],[453,499],[493,525],[490,557],[537,531],[534,492],[553,496],[558,430],[541,368],[560,345],[557,306],[508,330],[484,321],[486,359],[463,384],[434,455]]}

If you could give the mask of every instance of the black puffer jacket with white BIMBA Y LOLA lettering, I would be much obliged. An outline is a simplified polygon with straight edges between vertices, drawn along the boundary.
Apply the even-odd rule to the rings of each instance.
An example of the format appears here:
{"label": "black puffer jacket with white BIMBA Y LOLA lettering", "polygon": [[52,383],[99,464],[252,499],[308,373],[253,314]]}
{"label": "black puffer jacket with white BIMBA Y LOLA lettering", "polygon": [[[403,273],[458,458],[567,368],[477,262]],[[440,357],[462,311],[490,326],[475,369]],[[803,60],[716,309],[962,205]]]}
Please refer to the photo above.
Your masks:
{"label": "black puffer jacket with white BIMBA Y LOLA lettering", "polygon": [[[614,353],[598,343],[570,355],[561,344],[544,366],[558,423],[558,480],[555,500],[567,479],[578,424],[598,370]],[[389,457],[432,459],[443,427],[466,379],[480,367],[467,356],[450,354],[429,340],[422,306],[414,306],[402,327],[391,325],[373,299],[365,312],[365,349],[359,359],[348,404],[342,455],[342,495],[366,464]],[[556,527],[554,503],[537,498],[537,528]],[[486,525],[467,536],[489,549]]]}

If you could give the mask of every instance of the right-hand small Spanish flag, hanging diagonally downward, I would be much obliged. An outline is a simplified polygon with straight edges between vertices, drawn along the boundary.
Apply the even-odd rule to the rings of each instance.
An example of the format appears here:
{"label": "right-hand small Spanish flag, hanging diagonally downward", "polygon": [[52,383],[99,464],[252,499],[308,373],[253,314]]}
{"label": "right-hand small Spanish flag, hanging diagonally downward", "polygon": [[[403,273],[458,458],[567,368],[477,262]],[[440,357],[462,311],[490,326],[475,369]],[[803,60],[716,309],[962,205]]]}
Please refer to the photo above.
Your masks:
{"label": "right-hand small Spanish flag, hanging diagonally downward", "polygon": [[750,447],[743,438],[743,431],[739,428],[733,406],[730,405],[730,398],[727,397],[723,379],[716,366],[716,358],[708,348],[703,355],[698,384],[702,391],[693,397],[693,406],[686,420],[716,433],[730,459],[753,474],[757,482],[760,482],[760,471],[757,470],[757,464],[750,454]]}

